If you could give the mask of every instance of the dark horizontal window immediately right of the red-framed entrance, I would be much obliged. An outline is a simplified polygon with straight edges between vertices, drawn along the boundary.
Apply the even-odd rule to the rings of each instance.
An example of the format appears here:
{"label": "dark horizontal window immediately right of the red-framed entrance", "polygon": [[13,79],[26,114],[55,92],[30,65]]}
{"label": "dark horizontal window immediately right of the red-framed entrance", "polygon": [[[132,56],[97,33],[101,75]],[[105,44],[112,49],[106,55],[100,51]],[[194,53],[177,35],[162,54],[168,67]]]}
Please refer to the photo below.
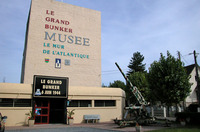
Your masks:
{"label": "dark horizontal window immediately right of the red-framed entrance", "polygon": [[70,100],[68,107],[91,107],[91,100]]}

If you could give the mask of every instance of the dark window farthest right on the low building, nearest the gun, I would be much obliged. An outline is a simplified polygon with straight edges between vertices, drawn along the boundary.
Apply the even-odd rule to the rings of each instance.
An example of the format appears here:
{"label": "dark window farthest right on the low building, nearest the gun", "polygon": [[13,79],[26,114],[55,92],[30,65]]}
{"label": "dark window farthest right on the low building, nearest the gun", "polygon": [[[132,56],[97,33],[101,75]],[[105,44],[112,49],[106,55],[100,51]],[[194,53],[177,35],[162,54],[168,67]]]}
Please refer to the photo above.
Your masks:
{"label": "dark window farthest right on the low building, nearest the gun", "polygon": [[116,106],[115,100],[95,100],[94,101],[95,107],[112,107]]}

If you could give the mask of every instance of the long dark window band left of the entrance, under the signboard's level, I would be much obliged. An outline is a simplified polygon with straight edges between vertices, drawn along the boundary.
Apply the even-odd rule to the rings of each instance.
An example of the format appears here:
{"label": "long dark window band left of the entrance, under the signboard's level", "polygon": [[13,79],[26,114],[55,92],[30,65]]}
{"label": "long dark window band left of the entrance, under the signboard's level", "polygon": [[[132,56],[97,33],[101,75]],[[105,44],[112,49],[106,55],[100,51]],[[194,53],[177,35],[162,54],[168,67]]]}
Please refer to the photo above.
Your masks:
{"label": "long dark window band left of the entrance, under the signboard's level", "polygon": [[0,99],[0,107],[31,107],[31,99]]}

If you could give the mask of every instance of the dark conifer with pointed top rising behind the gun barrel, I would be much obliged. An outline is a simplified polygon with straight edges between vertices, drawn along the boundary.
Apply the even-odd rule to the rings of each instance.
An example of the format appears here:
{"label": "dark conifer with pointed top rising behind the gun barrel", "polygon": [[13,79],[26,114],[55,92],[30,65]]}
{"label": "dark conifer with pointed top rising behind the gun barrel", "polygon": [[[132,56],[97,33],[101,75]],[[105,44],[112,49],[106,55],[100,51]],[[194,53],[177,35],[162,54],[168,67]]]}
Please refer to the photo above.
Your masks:
{"label": "dark conifer with pointed top rising behind the gun barrel", "polygon": [[135,52],[128,65],[129,71],[127,75],[130,75],[133,72],[144,72],[146,64],[142,63],[143,60],[144,56],[141,55],[140,52]]}

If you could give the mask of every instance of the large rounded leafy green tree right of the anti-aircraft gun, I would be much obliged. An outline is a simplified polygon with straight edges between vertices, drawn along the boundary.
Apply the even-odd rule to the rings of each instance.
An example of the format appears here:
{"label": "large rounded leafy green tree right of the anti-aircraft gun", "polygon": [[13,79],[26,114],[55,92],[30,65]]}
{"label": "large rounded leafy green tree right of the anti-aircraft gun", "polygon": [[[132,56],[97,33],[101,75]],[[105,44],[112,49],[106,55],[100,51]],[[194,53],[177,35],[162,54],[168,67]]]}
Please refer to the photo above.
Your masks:
{"label": "large rounded leafy green tree right of the anti-aircraft gun", "polygon": [[167,57],[161,53],[159,61],[154,61],[149,68],[152,99],[167,106],[178,104],[190,92],[189,78],[179,59],[174,58],[169,51]]}

